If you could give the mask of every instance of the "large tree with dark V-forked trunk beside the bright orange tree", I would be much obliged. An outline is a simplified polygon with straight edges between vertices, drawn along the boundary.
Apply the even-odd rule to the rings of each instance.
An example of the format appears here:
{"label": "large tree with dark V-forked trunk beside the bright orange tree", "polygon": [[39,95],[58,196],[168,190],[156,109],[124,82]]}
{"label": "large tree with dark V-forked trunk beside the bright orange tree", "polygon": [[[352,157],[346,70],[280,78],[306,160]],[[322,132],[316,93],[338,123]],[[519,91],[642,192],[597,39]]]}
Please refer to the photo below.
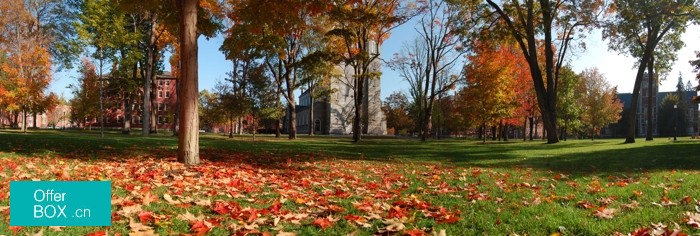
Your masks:
{"label": "large tree with dark V-forked trunk beside the bright orange tree", "polygon": [[[452,1],[460,7],[463,35],[515,40],[530,68],[547,142],[557,135],[557,85],[571,42],[598,22],[604,1]],[[543,50],[542,50],[543,49]]]}

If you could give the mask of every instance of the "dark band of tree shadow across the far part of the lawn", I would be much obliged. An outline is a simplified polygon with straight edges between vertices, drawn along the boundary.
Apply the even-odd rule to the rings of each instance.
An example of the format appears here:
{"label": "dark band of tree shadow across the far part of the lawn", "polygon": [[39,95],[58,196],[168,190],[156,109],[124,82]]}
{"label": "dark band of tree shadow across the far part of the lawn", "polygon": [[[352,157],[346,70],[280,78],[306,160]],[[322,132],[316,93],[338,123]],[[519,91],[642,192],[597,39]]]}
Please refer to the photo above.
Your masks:
{"label": "dark band of tree shadow across the far part of the lawn", "polygon": [[[497,144],[497,145],[496,145]],[[349,137],[250,136],[234,140],[221,135],[202,135],[201,156],[213,162],[242,162],[259,168],[285,168],[286,159],[369,160],[379,162],[441,162],[452,166],[533,168],[576,175],[604,175],[661,170],[700,170],[700,142],[684,140],[622,144],[622,140],[578,140],[558,144],[514,141],[437,140],[368,137],[355,144]],[[177,139],[170,135],[121,135],[99,132],[33,131],[22,134],[0,130],[0,156],[15,153],[43,157],[123,160],[134,156],[174,158]]]}

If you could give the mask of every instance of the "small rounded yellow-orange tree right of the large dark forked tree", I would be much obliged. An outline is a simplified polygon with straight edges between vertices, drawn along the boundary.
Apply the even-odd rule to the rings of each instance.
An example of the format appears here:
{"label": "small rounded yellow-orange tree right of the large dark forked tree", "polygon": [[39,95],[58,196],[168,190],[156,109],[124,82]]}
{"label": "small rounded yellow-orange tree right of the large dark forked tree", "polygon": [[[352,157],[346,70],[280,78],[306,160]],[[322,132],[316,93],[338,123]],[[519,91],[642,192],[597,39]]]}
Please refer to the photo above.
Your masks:
{"label": "small rounded yellow-orange tree right of the large dark forked tree", "polygon": [[597,68],[586,69],[580,76],[584,92],[580,98],[584,110],[581,121],[593,140],[605,126],[620,120],[622,102],[617,98],[617,88],[610,86]]}

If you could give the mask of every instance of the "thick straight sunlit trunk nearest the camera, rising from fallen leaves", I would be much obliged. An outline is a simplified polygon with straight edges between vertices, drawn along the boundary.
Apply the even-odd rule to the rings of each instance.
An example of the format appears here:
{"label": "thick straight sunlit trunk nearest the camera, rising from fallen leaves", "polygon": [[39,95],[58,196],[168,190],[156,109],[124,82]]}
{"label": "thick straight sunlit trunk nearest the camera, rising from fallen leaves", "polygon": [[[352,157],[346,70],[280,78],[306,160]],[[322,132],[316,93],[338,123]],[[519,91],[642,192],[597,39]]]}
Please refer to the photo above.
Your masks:
{"label": "thick straight sunlit trunk nearest the camera, rising from fallen leaves", "polygon": [[180,42],[182,43],[182,88],[178,161],[197,165],[199,160],[199,113],[197,78],[197,0],[181,0]]}

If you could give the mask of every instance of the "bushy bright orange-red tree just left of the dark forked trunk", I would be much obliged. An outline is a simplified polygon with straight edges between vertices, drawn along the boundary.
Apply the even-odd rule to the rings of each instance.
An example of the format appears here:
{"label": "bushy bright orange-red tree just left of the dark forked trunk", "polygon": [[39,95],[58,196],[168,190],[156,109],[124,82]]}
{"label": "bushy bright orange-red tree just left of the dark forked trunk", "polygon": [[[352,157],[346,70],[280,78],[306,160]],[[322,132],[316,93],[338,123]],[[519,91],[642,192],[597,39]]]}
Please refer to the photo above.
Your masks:
{"label": "bushy bright orange-red tree just left of the dark forked trunk", "polygon": [[465,67],[466,86],[458,92],[458,110],[480,126],[486,141],[486,127],[496,128],[499,137],[507,140],[508,127],[519,124],[519,117],[532,114],[534,99],[531,78],[519,51],[514,45],[477,42],[475,53]]}

